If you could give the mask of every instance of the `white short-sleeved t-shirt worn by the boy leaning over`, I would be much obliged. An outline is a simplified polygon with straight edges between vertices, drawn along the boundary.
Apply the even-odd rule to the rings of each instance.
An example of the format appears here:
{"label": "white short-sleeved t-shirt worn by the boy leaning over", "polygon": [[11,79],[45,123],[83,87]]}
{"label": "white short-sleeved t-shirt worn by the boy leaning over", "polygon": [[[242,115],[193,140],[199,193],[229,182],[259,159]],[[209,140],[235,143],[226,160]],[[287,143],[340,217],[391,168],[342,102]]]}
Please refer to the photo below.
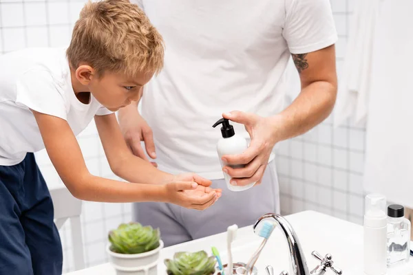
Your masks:
{"label": "white short-sleeved t-shirt worn by the boy leaning over", "polygon": [[30,111],[67,120],[74,135],[94,115],[112,113],[91,95],[80,102],[72,89],[63,48],[33,48],[0,56],[0,165],[19,164],[26,153],[45,146]]}

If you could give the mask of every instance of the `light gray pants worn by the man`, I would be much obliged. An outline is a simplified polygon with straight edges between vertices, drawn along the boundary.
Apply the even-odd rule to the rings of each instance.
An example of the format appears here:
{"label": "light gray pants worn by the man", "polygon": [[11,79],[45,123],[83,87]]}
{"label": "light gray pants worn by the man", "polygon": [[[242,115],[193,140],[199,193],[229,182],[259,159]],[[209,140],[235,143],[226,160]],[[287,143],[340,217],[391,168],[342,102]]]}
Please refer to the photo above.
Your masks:
{"label": "light gray pants worn by the man", "polygon": [[222,197],[206,210],[182,208],[171,203],[134,203],[134,221],[160,228],[165,246],[176,245],[238,227],[252,225],[262,214],[279,213],[279,187],[275,161],[270,162],[262,183],[245,191],[226,188],[224,179],[212,181],[212,188],[222,188]]}

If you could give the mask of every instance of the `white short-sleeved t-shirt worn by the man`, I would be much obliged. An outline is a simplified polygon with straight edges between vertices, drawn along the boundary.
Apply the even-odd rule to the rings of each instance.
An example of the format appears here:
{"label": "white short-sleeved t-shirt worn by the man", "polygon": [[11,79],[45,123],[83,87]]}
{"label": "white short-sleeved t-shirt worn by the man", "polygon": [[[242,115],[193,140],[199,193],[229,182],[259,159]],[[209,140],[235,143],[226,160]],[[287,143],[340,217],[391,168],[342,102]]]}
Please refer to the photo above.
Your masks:
{"label": "white short-sleeved t-shirt worn by the man", "polygon": [[[169,173],[223,177],[216,151],[233,110],[284,108],[290,54],[337,41],[328,0],[135,0],[165,39],[165,67],[145,87],[142,115]],[[244,126],[235,132],[249,137]]]}

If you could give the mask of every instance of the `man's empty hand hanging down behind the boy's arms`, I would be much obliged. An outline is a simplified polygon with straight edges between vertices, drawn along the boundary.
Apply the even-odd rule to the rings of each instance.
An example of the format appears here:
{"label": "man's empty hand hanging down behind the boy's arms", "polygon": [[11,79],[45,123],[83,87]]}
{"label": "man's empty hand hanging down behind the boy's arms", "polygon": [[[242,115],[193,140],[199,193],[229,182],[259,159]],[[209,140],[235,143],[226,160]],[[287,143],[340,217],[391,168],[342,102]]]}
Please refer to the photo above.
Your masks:
{"label": "man's empty hand hanging down behind the boy's arms", "polygon": [[[140,142],[145,142],[145,149],[149,157],[156,159],[152,129],[138,113],[137,109],[132,110],[132,108],[134,107],[131,105],[123,108],[125,110],[119,111],[118,120],[120,129],[132,153],[134,153],[134,155],[140,157],[141,159],[145,159],[147,162],[151,162],[145,155]],[[126,108],[128,110],[126,110]],[[155,167],[158,167],[158,164],[156,164],[156,162],[151,162],[151,164],[153,164],[153,166]]]}

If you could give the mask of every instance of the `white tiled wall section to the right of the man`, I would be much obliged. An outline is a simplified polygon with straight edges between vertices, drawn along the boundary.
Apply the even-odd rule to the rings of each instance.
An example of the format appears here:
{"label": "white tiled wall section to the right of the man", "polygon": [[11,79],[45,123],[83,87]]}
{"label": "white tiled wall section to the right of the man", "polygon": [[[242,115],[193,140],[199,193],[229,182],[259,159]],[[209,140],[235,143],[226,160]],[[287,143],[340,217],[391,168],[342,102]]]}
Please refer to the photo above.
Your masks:
{"label": "white tiled wall section to the right of the man", "polygon": [[[355,1],[331,0],[339,41],[337,74],[346,55]],[[277,168],[284,214],[317,210],[356,223],[363,221],[365,127],[332,126],[332,115],[305,135],[282,142]]]}

